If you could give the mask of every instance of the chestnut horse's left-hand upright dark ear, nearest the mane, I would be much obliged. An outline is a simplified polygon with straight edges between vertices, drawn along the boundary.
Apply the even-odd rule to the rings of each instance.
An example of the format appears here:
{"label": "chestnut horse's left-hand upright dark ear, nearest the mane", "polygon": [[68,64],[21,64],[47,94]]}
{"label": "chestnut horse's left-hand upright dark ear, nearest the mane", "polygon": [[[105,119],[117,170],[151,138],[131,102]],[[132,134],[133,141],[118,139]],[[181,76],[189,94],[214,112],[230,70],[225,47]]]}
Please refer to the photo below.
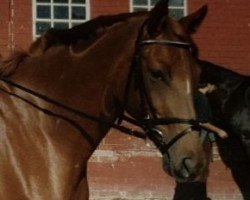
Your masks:
{"label": "chestnut horse's left-hand upright dark ear, nearest the mane", "polygon": [[168,15],[168,0],[161,0],[150,11],[147,23],[149,36],[153,37],[160,33],[163,26],[166,25],[165,17]]}

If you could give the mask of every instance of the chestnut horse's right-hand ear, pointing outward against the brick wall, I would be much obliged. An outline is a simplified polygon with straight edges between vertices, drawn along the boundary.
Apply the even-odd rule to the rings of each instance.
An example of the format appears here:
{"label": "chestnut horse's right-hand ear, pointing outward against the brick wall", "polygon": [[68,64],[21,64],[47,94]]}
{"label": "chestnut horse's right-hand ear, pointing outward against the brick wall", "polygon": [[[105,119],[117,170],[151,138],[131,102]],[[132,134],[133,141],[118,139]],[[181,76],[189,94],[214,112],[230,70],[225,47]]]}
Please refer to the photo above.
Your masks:
{"label": "chestnut horse's right-hand ear, pointing outward against the brick wall", "polygon": [[207,15],[207,9],[207,5],[202,6],[196,12],[180,19],[179,22],[185,27],[188,33],[195,33]]}

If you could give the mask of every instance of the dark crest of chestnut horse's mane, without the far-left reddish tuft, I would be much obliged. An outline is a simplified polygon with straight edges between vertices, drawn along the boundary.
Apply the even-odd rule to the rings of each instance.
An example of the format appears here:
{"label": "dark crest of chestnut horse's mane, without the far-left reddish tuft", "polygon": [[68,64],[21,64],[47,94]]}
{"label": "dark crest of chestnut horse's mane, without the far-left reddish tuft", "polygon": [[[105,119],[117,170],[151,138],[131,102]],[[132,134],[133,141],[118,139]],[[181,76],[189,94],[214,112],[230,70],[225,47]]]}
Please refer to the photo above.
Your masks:
{"label": "dark crest of chestnut horse's mane, without the far-left reddish tuft", "polygon": [[100,16],[71,29],[49,29],[44,35],[31,44],[29,53],[32,55],[40,54],[52,46],[60,44],[71,45],[79,40],[85,41],[86,43],[91,41],[91,43],[93,43],[93,41],[105,34],[108,27],[145,13],[146,12],[137,12]]}

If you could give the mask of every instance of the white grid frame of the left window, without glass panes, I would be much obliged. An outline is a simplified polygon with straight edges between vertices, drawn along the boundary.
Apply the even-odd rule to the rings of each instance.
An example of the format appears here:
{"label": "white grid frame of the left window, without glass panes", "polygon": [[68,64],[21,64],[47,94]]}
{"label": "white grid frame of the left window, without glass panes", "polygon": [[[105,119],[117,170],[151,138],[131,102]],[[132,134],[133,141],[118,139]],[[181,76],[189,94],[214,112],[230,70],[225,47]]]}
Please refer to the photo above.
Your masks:
{"label": "white grid frame of the left window, without glass panes", "polygon": [[[32,0],[32,19],[33,19],[33,39],[36,39],[39,35],[36,34],[36,22],[50,22],[51,23],[51,27],[53,27],[52,25],[54,24],[54,22],[64,22],[64,23],[68,23],[69,24],[69,28],[72,27],[73,23],[82,23],[85,21],[88,21],[90,19],[90,1],[91,0],[85,0],[85,4],[81,4],[81,3],[71,3],[71,0],[69,0],[69,3],[54,3],[54,0],[50,0],[50,3],[38,3],[37,0]],[[37,19],[37,9],[36,6],[37,5],[48,5],[50,6],[50,14],[51,14],[51,18],[50,19]],[[54,19],[54,6],[62,6],[62,5],[66,5],[68,6],[69,9],[69,19]],[[80,20],[80,19],[71,19],[71,7],[72,6],[80,6],[80,7],[85,7],[86,8],[86,19],[84,20]]]}

